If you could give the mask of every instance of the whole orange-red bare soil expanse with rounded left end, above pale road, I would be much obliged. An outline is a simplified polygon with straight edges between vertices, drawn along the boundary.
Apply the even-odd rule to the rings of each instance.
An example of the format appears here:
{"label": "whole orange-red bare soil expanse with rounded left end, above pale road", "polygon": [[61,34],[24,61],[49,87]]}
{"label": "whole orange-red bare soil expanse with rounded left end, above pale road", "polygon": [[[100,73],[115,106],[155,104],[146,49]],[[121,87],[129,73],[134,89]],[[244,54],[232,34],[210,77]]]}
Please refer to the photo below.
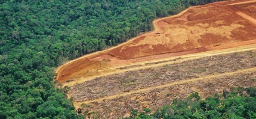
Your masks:
{"label": "whole orange-red bare soil expanse with rounded left end, above pale road", "polygon": [[115,73],[111,68],[117,66],[255,44],[255,2],[211,3],[155,20],[155,30],[150,33],[60,66],[56,79],[74,84],[89,77]]}

